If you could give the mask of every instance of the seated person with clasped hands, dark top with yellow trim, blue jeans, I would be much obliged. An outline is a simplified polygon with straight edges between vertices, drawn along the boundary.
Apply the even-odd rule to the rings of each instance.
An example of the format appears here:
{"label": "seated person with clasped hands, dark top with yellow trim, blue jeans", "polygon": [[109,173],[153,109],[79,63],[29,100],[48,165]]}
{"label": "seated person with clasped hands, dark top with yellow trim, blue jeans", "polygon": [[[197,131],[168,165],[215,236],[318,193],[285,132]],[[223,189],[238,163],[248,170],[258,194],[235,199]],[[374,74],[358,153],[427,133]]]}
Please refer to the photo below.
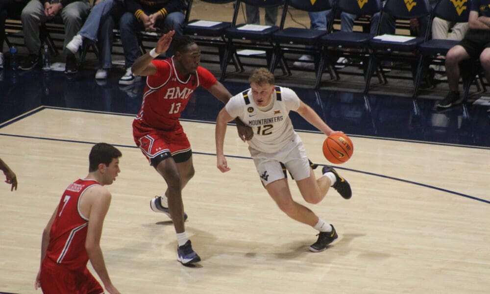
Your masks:
{"label": "seated person with clasped hands, dark top with yellow trim, blue jeans", "polygon": [[[184,0],[125,0],[125,4],[127,12],[119,20],[119,28],[126,73],[119,84],[131,85],[136,79],[131,66],[141,56],[138,32],[161,30],[167,33],[174,30],[176,35],[182,35],[186,3]],[[170,57],[173,53],[171,45],[166,55]]]}

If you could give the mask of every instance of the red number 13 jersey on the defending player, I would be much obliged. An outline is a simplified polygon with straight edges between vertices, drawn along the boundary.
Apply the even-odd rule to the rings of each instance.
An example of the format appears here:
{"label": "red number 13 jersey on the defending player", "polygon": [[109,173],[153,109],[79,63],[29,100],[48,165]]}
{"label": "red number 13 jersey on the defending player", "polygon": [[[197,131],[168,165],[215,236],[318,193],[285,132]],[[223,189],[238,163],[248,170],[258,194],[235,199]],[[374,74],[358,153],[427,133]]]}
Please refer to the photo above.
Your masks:
{"label": "red number 13 jersey on the defending player", "polygon": [[192,93],[198,86],[209,89],[216,77],[203,67],[196,73],[180,75],[172,58],[153,60],[156,73],[147,77],[141,110],[136,120],[152,128],[173,130],[180,124],[178,119]]}

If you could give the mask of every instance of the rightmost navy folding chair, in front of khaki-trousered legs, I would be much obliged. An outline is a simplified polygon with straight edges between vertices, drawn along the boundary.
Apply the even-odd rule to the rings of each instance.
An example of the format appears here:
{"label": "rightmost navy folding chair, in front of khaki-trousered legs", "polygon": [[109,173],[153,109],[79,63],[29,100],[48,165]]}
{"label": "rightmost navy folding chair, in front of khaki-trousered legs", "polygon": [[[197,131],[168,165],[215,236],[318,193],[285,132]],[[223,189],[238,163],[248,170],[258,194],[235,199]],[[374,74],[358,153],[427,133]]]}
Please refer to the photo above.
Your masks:
{"label": "rightmost navy folding chair, in front of khaki-trousered legs", "polygon": [[[469,17],[469,6],[470,2],[462,3],[461,5],[457,5],[453,0],[440,0],[436,7],[434,7],[432,11],[432,17],[438,17],[445,21],[453,22],[453,23],[466,23],[468,22]],[[420,86],[420,78],[422,76],[423,67],[427,66],[428,63],[431,64],[444,64],[444,59],[438,58],[439,56],[445,56],[449,49],[458,45],[459,41],[456,40],[441,40],[441,39],[432,39],[428,40],[418,46],[418,51],[422,55],[422,59],[418,63],[417,66],[417,76],[414,88],[413,98],[417,97],[418,89]],[[478,69],[480,68],[480,63],[478,60],[472,61],[475,66],[469,67],[470,71],[465,71],[463,77],[463,85],[464,85],[464,96],[463,101],[466,101],[468,96],[469,87],[471,86],[472,81],[475,79],[476,74],[478,73]],[[466,63],[467,65],[467,63]],[[481,79],[481,78],[480,78]],[[480,86],[476,83],[478,87],[478,91],[480,91]],[[482,82],[483,88],[485,88],[484,83]]]}

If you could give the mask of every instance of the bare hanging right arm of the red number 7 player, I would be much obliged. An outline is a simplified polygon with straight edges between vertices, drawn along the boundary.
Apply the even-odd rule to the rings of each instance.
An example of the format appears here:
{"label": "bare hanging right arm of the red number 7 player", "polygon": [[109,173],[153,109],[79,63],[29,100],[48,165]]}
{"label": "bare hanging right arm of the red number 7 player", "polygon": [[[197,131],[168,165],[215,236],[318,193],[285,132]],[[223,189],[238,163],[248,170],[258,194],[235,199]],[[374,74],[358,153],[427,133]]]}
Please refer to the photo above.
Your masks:
{"label": "bare hanging right arm of the red number 7 player", "polygon": [[100,248],[102,225],[111,204],[111,194],[102,186],[94,186],[85,191],[84,197],[90,197],[88,200],[91,203],[87,239],[85,240],[85,249],[87,250],[90,263],[100,277],[107,292],[110,294],[119,294],[120,292],[114,287],[109,278],[102,249]]}

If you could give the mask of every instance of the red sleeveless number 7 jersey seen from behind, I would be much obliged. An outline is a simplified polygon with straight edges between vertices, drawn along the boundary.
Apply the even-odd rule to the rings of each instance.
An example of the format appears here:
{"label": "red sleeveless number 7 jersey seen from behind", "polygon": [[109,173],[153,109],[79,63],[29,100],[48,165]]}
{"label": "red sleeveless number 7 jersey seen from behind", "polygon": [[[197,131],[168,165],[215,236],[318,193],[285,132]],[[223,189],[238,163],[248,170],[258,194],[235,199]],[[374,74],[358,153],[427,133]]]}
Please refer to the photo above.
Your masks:
{"label": "red sleeveless number 7 jersey seen from behind", "polygon": [[68,186],[49,232],[46,258],[68,270],[83,270],[89,260],[85,250],[88,219],[80,214],[78,202],[85,190],[94,185],[100,184],[78,179]]}

